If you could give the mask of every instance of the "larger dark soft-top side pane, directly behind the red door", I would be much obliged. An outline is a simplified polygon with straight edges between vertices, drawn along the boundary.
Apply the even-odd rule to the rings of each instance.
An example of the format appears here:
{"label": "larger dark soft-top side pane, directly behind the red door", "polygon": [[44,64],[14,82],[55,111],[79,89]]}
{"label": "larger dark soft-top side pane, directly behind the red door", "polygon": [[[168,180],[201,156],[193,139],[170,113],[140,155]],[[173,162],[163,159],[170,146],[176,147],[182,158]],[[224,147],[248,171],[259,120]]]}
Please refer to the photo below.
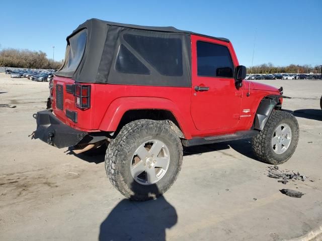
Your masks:
{"label": "larger dark soft-top side pane, directly behind the red door", "polygon": [[124,34],[123,39],[158,73],[182,76],[181,39],[134,34]]}

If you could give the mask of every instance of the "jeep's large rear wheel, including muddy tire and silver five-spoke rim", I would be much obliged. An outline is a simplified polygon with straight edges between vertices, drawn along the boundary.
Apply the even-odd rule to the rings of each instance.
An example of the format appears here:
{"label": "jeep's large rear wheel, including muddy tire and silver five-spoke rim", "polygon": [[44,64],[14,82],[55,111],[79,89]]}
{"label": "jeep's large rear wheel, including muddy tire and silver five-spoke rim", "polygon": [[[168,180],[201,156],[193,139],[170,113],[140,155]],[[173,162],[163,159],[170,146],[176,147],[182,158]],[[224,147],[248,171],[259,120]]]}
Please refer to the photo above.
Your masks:
{"label": "jeep's large rear wheel, including muddy tire and silver five-spoke rim", "polygon": [[166,192],[183,159],[177,134],[164,122],[140,119],[125,125],[106,150],[105,169],[125,197],[145,201]]}

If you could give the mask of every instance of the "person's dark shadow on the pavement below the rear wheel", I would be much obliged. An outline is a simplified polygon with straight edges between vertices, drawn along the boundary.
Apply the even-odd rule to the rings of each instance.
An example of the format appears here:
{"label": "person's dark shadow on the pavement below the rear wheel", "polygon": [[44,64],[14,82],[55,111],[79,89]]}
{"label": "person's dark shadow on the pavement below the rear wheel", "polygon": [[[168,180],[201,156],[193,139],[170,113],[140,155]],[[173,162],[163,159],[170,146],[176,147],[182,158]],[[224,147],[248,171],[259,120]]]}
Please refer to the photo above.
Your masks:
{"label": "person's dark shadow on the pavement below the rear wheel", "polygon": [[[157,189],[152,184],[152,189]],[[178,221],[164,196],[145,202],[121,200],[101,223],[99,240],[166,240],[166,229]]]}

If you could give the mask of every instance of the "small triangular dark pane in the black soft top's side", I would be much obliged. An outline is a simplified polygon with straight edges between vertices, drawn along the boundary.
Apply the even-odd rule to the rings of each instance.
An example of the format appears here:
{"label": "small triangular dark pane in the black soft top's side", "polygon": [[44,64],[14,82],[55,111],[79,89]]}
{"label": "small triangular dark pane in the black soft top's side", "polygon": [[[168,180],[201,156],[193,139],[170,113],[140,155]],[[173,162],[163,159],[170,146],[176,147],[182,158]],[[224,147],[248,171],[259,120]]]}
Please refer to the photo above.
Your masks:
{"label": "small triangular dark pane in the black soft top's side", "polygon": [[149,74],[150,71],[124,45],[120,45],[115,69],[122,73]]}

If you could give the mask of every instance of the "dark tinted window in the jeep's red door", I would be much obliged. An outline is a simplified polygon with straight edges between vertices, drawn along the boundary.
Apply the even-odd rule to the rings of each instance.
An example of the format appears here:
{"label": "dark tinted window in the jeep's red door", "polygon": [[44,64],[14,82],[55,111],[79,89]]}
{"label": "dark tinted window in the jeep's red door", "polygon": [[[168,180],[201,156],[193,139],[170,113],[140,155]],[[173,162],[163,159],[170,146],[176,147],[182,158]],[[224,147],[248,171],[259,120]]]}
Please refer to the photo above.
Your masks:
{"label": "dark tinted window in the jeep's red door", "polygon": [[198,76],[233,77],[233,63],[227,47],[197,42]]}

